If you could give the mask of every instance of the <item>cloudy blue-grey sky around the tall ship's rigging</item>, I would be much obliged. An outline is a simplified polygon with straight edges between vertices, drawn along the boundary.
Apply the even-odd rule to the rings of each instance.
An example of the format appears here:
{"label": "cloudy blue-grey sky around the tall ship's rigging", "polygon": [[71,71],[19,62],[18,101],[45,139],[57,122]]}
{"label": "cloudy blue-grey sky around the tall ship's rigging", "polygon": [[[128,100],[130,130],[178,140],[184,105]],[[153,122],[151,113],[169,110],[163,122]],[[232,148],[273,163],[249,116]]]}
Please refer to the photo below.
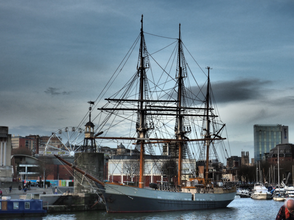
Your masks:
{"label": "cloudy blue-grey sky around the tall ship's rigging", "polygon": [[0,1],[0,126],[20,136],[79,126],[143,14],[152,34],[177,38],[181,23],[184,45],[212,67],[232,156],[254,157],[254,124],[289,126],[293,143],[293,10],[293,0]]}

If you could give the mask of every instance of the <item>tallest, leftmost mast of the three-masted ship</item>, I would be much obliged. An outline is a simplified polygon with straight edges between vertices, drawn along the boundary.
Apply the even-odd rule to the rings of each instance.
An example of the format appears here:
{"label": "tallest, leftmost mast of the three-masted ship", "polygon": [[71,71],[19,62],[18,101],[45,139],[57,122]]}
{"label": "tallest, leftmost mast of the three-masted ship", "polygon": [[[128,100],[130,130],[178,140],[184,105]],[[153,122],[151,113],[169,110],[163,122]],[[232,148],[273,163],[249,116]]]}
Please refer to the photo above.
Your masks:
{"label": "tallest, leftmost mast of the three-masted ship", "polygon": [[140,44],[140,57],[141,57],[141,62],[140,62],[140,125],[139,125],[139,138],[141,139],[140,142],[140,176],[139,176],[139,188],[144,187],[144,140],[145,138],[145,111],[143,109],[144,107],[144,57],[143,57],[143,50],[144,50],[144,35],[143,35],[143,15],[142,15],[142,20],[141,20],[141,44]]}

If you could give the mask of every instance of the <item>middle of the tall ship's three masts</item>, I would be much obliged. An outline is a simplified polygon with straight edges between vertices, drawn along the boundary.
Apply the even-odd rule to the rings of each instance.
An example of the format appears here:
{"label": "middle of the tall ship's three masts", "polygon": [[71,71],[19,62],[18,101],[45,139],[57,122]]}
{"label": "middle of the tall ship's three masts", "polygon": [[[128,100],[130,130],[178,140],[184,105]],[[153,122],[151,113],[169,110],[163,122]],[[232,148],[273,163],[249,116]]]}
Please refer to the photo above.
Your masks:
{"label": "middle of the tall ship's three masts", "polygon": [[[181,24],[179,25],[179,49],[178,49],[178,62],[179,62],[179,84],[178,84],[178,128],[177,138],[182,139],[183,131],[183,116],[181,114],[182,106],[182,66],[181,66]],[[182,185],[182,154],[183,154],[183,143],[179,142],[179,158],[178,158],[178,185]]]}

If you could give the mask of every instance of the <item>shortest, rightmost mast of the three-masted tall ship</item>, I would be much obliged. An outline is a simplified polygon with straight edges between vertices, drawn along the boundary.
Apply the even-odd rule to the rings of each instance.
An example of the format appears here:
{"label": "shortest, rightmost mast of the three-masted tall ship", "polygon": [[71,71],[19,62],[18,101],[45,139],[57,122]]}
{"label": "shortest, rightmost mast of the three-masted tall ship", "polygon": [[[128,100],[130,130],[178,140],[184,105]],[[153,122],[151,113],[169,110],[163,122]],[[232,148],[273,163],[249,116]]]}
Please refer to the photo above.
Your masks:
{"label": "shortest, rightmost mast of the three-masted tall ship", "polygon": [[206,67],[208,69],[208,79],[207,79],[207,92],[206,92],[206,134],[205,138],[206,140],[206,173],[205,178],[208,178],[208,165],[209,165],[209,145],[210,140],[208,138],[210,137],[210,119],[209,119],[209,86],[210,86],[210,79],[209,79],[209,69],[211,69],[209,66]]}

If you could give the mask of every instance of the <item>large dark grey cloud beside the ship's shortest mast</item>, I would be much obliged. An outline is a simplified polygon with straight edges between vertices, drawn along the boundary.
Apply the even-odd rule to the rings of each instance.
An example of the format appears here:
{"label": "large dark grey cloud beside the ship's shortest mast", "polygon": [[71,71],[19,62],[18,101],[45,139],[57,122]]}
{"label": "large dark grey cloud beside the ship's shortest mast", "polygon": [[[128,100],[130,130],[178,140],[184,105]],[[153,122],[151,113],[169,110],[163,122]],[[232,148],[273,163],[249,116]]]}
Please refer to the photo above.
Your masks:
{"label": "large dark grey cloud beside the ship's shortest mast", "polygon": [[[212,83],[211,87],[216,102],[224,103],[260,99],[264,97],[265,87],[271,83],[272,82],[268,80],[240,79],[218,81]],[[197,87],[192,87],[191,90],[194,94],[199,93]]]}

